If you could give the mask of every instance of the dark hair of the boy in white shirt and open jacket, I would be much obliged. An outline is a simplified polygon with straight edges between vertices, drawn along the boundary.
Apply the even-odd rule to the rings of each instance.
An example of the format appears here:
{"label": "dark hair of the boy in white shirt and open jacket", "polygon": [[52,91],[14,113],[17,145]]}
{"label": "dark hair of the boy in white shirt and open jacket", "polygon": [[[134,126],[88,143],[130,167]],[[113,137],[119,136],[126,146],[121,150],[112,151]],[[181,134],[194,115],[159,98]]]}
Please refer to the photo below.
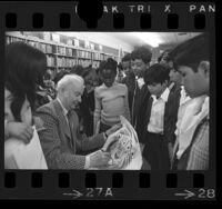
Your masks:
{"label": "dark hair of the boy in white shirt and open jacket", "polygon": [[160,63],[151,66],[144,72],[145,84],[155,84],[155,83],[162,84],[165,80],[168,81],[169,79],[170,79],[169,70]]}

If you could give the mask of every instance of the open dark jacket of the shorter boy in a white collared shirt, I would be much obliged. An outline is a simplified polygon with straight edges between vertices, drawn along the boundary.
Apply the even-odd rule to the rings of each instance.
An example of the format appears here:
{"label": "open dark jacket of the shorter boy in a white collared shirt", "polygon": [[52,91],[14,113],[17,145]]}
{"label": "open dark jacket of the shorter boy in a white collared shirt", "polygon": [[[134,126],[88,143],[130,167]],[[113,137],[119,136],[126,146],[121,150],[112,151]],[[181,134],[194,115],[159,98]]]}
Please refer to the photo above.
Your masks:
{"label": "open dark jacket of the shorter boy in a white collared shirt", "polygon": [[[179,93],[173,93],[170,91],[168,102],[165,103],[165,111],[164,111],[164,121],[163,121],[163,138],[165,142],[172,142],[174,143],[175,141],[175,125],[178,121],[178,109],[180,106],[180,94]],[[142,109],[145,109],[145,111],[142,111]],[[152,108],[152,100],[151,97],[150,99],[147,100],[147,102],[143,103],[143,107],[141,108],[140,111],[140,123],[138,123],[138,129],[139,129],[139,140],[142,143],[149,143],[149,139],[145,138],[147,136],[147,128],[148,123],[150,122],[150,116],[151,116],[151,108]]]}

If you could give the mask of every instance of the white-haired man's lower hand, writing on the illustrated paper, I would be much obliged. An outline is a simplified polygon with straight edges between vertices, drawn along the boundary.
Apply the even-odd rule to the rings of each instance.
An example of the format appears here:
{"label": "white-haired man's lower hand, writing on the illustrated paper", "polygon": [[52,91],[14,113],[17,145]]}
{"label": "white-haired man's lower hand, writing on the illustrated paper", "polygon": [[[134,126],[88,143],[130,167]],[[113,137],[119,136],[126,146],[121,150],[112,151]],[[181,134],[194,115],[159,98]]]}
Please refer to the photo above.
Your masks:
{"label": "white-haired man's lower hand, writing on the illustrated paper", "polygon": [[110,153],[102,150],[98,150],[89,155],[90,157],[90,168],[98,168],[108,166],[110,161]]}

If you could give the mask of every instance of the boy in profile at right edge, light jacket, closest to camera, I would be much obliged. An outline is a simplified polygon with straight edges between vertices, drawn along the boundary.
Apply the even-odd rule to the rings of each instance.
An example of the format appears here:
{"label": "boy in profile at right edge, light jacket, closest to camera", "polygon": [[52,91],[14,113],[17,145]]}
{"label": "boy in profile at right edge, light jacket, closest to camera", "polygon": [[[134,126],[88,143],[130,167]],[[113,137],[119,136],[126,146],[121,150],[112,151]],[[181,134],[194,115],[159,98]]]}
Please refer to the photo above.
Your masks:
{"label": "boy in profile at right edge, light jacket, closest to camera", "polygon": [[184,89],[192,98],[179,110],[182,119],[178,127],[172,169],[209,169],[209,34],[203,33],[181,43],[170,53],[183,76]]}

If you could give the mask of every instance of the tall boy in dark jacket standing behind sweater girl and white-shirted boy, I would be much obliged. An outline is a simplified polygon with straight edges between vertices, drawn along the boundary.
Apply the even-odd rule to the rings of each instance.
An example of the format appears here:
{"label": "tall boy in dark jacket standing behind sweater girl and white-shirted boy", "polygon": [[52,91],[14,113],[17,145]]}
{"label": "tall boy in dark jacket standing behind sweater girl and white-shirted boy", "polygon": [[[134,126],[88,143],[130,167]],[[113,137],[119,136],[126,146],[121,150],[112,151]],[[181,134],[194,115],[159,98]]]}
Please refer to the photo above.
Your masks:
{"label": "tall boy in dark jacket standing behind sweater girl and white-shirted boy", "polygon": [[139,111],[144,111],[141,109],[141,106],[145,100],[145,98],[150,97],[148,87],[144,84],[143,74],[150,66],[151,57],[152,53],[150,49],[145,46],[134,49],[131,53],[131,68],[135,76],[135,88],[132,99],[131,116],[132,116],[132,126],[135,128],[135,130],[137,127],[140,127],[138,122],[141,121],[138,120]]}

